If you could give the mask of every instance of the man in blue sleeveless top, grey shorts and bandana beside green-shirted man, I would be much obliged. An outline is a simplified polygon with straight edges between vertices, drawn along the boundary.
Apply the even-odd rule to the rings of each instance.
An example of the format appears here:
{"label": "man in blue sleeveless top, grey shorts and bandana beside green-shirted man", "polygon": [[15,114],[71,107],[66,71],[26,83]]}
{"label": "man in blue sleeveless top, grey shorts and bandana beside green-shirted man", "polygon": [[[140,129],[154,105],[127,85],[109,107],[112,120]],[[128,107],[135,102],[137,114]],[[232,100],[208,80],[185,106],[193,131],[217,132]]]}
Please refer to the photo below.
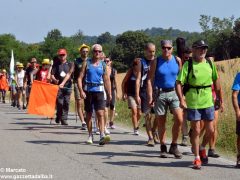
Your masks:
{"label": "man in blue sleeveless top, grey shorts and bandana beside green-shirted man", "polygon": [[[172,41],[161,41],[162,56],[159,56],[150,66],[150,74],[148,81],[148,97],[149,103],[152,100],[153,90],[157,91],[154,111],[156,119],[159,122],[159,139],[161,143],[160,157],[167,157],[166,146],[166,117],[168,108],[174,116],[174,125],[172,127],[172,143],[169,149],[170,154],[174,154],[175,158],[182,158],[182,154],[177,147],[177,140],[181,125],[183,122],[182,109],[179,106],[179,99],[175,91],[175,83],[178,72],[182,64],[181,59],[172,55]],[[152,82],[154,83],[152,86]]]}

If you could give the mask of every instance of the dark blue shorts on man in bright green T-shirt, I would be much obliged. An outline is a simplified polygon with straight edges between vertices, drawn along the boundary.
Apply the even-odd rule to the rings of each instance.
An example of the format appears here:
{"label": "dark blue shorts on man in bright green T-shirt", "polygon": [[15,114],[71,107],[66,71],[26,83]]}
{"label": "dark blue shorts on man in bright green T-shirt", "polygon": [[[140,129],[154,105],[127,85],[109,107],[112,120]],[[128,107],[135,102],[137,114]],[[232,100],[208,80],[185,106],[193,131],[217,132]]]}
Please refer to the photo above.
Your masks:
{"label": "dark blue shorts on man in bright green T-shirt", "polygon": [[187,109],[187,119],[189,121],[214,120],[214,106],[205,109]]}

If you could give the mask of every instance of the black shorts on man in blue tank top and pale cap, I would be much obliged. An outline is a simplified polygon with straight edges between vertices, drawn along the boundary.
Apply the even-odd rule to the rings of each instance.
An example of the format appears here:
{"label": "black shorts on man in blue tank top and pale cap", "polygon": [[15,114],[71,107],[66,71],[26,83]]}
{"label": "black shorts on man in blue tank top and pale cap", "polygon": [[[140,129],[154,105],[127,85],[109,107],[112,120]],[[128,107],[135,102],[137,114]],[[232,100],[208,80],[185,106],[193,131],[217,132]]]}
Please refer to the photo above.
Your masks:
{"label": "black shorts on man in blue tank top and pale cap", "polygon": [[103,92],[86,92],[86,99],[84,99],[84,109],[88,113],[95,111],[104,110],[106,103],[104,100]]}

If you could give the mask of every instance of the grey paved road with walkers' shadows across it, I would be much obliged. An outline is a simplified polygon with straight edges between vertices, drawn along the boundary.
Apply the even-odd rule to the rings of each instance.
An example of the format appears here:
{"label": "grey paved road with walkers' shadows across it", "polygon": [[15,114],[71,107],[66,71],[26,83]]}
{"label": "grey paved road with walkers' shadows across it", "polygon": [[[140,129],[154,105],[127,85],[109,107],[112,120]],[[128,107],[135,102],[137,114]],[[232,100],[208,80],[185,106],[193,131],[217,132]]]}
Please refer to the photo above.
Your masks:
{"label": "grey paved road with walkers' shadows across it", "polygon": [[[1,175],[52,175],[53,179],[240,179],[233,161],[210,159],[202,170],[191,169],[192,154],[181,148],[181,160],[159,158],[159,145],[145,146],[146,137],[131,131],[112,131],[110,144],[86,145],[87,132],[75,117],[70,126],[50,125],[49,120],[0,104]],[[26,172],[4,172],[17,169]],[[15,170],[16,171],[16,170]],[[2,177],[3,178],[3,177]]]}

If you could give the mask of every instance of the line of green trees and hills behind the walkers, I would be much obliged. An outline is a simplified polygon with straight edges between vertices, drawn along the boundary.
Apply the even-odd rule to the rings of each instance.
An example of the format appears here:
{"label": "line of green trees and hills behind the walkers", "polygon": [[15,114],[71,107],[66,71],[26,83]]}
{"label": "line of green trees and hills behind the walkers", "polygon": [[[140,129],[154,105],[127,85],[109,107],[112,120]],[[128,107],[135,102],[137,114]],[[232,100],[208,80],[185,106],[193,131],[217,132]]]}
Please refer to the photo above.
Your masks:
{"label": "line of green trees and hills behind the walkers", "polygon": [[31,44],[20,42],[12,34],[1,34],[0,68],[8,69],[11,49],[14,50],[15,60],[26,64],[31,57],[36,57],[38,60],[52,59],[59,48],[66,48],[69,54],[68,59],[74,60],[78,56],[78,47],[82,43],[88,45],[99,43],[103,45],[105,54],[113,59],[116,69],[119,72],[125,72],[135,57],[143,56],[145,43],[155,43],[158,47],[156,54],[160,55],[160,40],[175,41],[177,37],[185,38],[188,46],[196,40],[206,40],[209,44],[209,52],[217,61],[240,57],[240,18],[235,19],[232,16],[220,19],[201,15],[199,25],[202,29],[201,33],[173,28],[151,28],[126,31],[116,36],[109,32],[99,36],[87,36],[79,30],[76,34],[65,37],[60,30],[53,29],[47,33],[43,42]]}

